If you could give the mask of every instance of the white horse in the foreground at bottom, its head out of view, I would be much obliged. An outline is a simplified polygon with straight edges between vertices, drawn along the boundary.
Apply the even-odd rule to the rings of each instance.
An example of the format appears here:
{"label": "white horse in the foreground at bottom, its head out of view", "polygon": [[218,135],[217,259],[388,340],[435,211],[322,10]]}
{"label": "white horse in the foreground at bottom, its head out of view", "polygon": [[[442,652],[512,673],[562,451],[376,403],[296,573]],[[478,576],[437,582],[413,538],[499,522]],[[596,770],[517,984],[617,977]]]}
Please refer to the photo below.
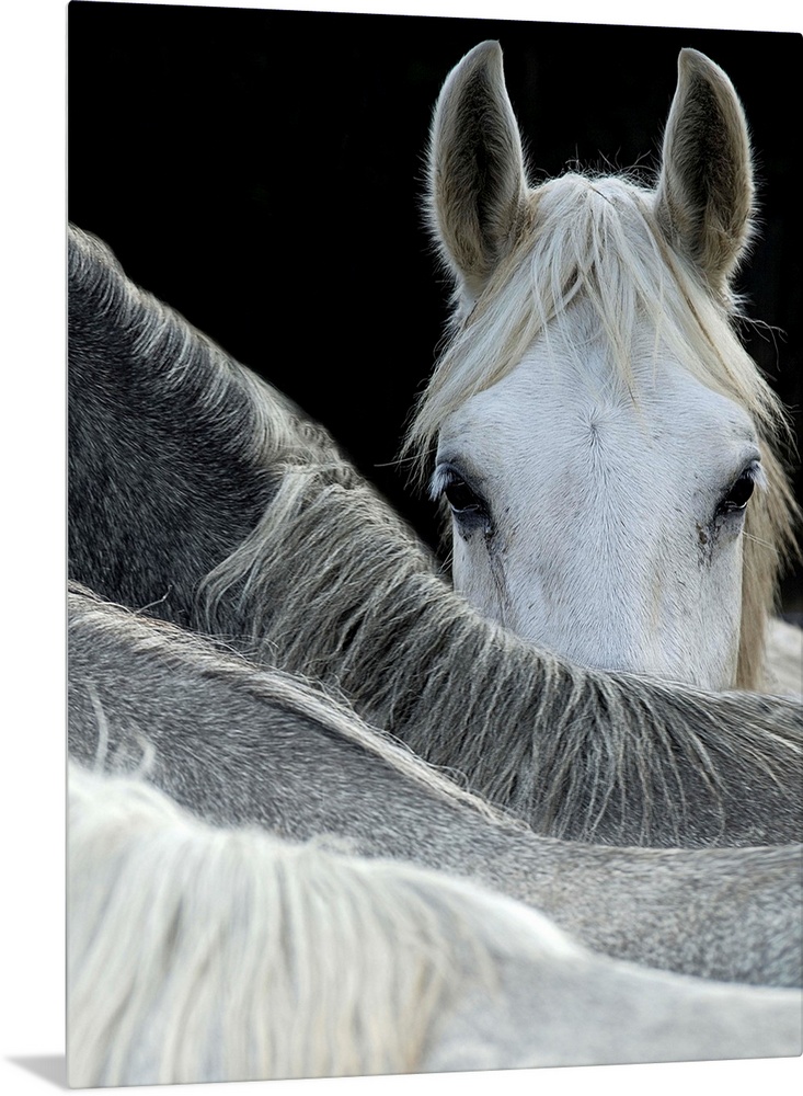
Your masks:
{"label": "white horse in the foreground at bottom, its head out of view", "polygon": [[72,1086],[790,1057],[801,995],[595,955],[412,865],[70,766]]}

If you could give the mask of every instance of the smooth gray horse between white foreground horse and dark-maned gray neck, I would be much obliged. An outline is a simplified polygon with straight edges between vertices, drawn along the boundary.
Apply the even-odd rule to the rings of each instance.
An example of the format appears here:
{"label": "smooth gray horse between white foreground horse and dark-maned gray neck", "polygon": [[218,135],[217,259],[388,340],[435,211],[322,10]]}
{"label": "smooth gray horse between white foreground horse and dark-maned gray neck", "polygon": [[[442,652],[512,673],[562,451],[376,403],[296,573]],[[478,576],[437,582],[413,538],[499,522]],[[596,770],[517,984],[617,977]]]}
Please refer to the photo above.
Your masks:
{"label": "smooth gray horse between white foreground horse and dark-maned gray neck", "polygon": [[[796,984],[799,850],[665,853],[539,838],[487,817],[280,674],[81,593],[70,616],[70,752],[83,764],[126,770],[145,760],[148,779],[208,821],[328,834],[362,855],[478,879],[621,958]],[[699,924],[691,938],[690,917]]]}

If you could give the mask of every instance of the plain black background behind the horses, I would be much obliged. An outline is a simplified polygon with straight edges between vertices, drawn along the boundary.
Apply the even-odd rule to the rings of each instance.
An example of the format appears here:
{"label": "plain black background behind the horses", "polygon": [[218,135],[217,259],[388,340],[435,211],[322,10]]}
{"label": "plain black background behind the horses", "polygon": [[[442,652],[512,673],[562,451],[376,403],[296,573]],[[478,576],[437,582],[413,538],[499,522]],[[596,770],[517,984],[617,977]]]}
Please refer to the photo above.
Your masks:
{"label": "plain black background behind the horses", "polygon": [[504,49],[536,178],[655,167],[678,50],[725,69],[761,186],[739,289],[780,329],[745,338],[803,403],[801,35],[80,0],[68,35],[70,219],[323,422],[431,543],[432,504],[394,465],[446,315],[423,155],[443,80],[484,38]]}

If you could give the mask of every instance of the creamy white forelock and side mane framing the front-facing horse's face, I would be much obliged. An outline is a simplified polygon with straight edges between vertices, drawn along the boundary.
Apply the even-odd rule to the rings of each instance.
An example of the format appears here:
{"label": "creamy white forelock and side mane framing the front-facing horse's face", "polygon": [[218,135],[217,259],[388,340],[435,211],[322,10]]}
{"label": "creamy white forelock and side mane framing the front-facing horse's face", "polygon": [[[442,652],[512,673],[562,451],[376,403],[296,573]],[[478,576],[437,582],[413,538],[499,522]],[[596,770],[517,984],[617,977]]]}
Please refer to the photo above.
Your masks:
{"label": "creamy white forelock and side mane framing the front-facing horse's face", "polygon": [[[646,321],[658,347],[707,387],[738,403],[760,438],[767,490],[748,507],[742,635],[736,684],[760,686],[764,646],[778,578],[794,548],[798,506],[783,469],[791,433],[784,411],[742,346],[731,295],[718,299],[692,265],[666,244],[655,193],[627,176],[569,173],[527,198],[518,239],[467,316],[456,309],[447,345],[422,395],[402,454],[417,455],[420,477],[445,419],[512,372],[538,335],[559,326],[572,345],[573,308],[590,302],[612,376],[632,384],[633,332]],[[582,362],[584,346],[577,345]]]}

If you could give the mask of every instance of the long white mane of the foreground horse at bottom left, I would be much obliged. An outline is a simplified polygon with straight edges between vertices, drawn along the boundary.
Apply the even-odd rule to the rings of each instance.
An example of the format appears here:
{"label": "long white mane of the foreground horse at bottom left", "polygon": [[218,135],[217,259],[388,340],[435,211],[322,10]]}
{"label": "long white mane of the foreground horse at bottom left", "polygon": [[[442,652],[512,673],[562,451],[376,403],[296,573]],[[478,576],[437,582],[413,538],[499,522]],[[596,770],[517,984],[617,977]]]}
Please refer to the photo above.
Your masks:
{"label": "long white mane of the foreground horse at bottom left", "polygon": [[472,884],[216,829],[137,778],[71,765],[69,802],[73,1086],[415,1071],[514,940],[584,954]]}

